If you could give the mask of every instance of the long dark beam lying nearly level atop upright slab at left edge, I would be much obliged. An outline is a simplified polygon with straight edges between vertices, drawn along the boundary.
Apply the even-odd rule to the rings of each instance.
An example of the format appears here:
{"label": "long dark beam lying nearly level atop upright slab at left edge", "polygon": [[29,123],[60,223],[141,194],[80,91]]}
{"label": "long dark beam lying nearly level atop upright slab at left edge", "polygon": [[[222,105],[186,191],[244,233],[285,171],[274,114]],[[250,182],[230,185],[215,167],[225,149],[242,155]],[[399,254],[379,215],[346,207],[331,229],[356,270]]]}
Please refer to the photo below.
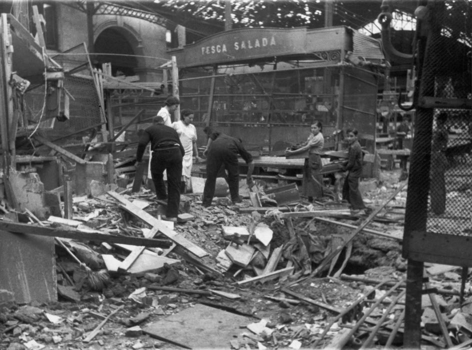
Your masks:
{"label": "long dark beam lying nearly level atop upright slab at left edge", "polygon": [[40,225],[32,225],[27,223],[0,221],[0,230],[14,232],[14,233],[25,233],[35,234],[49,237],[63,237],[72,238],[77,240],[85,241],[96,241],[96,242],[107,242],[107,243],[121,243],[131,245],[145,245],[146,247],[159,247],[168,248],[172,243],[169,240],[154,239],[154,238],[143,238],[143,237],[131,237],[122,235],[113,235],[99,232],[86,232],[78,229],[64,229],[64,228],[51,228]]}

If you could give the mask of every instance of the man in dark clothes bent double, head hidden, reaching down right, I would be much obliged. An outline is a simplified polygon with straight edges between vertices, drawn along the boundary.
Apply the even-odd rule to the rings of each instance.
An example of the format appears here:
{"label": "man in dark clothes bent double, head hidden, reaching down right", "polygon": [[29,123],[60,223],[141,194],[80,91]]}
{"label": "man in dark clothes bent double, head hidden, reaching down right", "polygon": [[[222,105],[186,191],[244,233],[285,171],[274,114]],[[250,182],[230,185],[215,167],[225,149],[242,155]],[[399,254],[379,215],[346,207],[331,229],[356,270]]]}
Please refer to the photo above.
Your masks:
{"label": "man in dark clothes bent double, head hidden, reaching down right", "polygon": [[206,181],[203,189],[203,206],[210,206],[213,200],[216,176],[221,165],[228,172],[227,182],[229,194],[233,203],[239,201],[239,172],[237,155],[240,155],[247,164],[246,182],[250,186],[252,182],[252,155],[248,153],[239,139],[220,133],[211,142],[206,157]]}

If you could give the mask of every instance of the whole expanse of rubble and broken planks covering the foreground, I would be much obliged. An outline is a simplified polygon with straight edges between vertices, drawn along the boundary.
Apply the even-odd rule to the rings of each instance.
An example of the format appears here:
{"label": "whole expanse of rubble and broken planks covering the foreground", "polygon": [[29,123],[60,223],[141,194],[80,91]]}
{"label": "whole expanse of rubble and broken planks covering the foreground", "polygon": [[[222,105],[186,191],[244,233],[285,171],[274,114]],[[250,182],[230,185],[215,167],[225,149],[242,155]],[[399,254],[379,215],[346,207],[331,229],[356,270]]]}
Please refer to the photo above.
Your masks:
{"label": "whole expanse of rubble and broken planks covering the foreground", "polygon": [[[350,226],[366,217],[330,203],[252,210],[245,195],[236,205],[216,198],[205,208],[189,193],[173,223],[160,219],[164,204],[151,191],[113,189],[74,197],[71,219],[20,215],[28,225],[100,232],[108,241],[57,237],[59,301],[15,304],[2,297],[0,348],[401,347],[406,195],[397,184],[366,192],[372,207],[398,194],[349,242]],[[113,242],[117,237],[160,239],[162,246]],[[464,344],[472,335],[468,303],[458,306],[460,275],[443,268],[428,269],[431,302],[423,302],[422,341],[433,347]],[[463,290],[469,289],[467,283]],[[234,322],[218,328],[211,319]]]}

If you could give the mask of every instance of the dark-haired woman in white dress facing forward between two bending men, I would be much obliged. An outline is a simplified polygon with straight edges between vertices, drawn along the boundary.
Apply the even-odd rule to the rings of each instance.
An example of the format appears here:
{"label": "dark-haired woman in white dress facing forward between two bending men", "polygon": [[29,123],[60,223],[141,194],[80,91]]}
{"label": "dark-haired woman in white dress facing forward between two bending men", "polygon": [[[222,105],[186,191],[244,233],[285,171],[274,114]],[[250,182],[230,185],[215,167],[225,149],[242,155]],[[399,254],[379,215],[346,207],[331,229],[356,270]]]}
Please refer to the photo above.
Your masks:
{"label": "dark-haired woman in white dress facing forward between two bending men", "polygon": [[185,155],[182,159],[182,182],[184,183],[184,191],[191,189],[191,167],[193,156],[195,162],[198,162],[198,149],[196,147],[196,128],[191,123],[193,121],[193,112],[190,109],[181,111],[181,120],[174,121],[172,127],[177,131],[182,143]]}

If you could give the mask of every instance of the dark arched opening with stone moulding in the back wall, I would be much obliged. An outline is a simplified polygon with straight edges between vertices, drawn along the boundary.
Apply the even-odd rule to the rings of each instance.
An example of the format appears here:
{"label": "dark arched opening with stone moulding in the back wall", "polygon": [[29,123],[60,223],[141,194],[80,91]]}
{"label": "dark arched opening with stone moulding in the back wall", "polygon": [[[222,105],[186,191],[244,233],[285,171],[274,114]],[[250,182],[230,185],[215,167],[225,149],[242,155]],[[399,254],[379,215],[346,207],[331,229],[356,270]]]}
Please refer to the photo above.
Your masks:
{"label": "dark arched opening with stone moulding in the back wall", "polygon": [[101,68],[102,63],[111,63],[111,74],[136,75],[142,66],[141,40],[137,33],[119,26],[116,21],[102,23],[94,41],[94,64]]}

